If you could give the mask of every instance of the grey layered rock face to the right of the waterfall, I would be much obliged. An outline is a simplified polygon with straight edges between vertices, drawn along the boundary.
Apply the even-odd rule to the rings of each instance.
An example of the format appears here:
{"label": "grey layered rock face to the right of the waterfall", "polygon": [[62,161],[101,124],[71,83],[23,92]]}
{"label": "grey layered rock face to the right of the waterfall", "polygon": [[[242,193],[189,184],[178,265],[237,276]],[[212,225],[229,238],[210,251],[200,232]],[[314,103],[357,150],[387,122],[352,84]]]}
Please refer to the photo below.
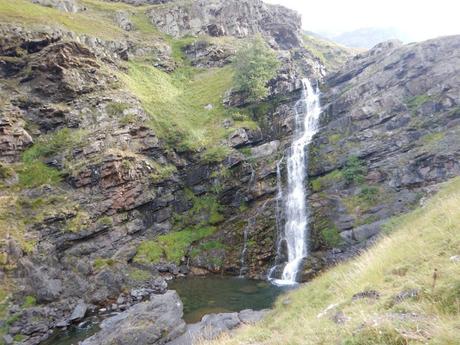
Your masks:
{"label": "grey layered rock face to the right of the waterfall", "polygon": [[328,233],[340,234],[332,246],[364,244],[460,174],[459,62],[459,36],[389,41],[327,79],[309,171],[315,248]]}

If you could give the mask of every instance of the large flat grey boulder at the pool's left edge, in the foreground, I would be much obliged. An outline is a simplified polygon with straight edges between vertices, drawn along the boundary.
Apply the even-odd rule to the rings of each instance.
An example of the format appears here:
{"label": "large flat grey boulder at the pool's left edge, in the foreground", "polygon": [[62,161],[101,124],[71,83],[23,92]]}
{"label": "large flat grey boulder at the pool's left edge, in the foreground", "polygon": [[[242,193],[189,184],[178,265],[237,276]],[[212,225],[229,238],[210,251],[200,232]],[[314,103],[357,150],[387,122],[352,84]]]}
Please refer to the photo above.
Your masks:
{"label": "large flat grey boulder at the pool's left edge, in the foreground", "polygon": [[182,302],[175,291],[152,295],[150,301],[104,320],[101,331],[82,345],[165,344],[186,330]]}

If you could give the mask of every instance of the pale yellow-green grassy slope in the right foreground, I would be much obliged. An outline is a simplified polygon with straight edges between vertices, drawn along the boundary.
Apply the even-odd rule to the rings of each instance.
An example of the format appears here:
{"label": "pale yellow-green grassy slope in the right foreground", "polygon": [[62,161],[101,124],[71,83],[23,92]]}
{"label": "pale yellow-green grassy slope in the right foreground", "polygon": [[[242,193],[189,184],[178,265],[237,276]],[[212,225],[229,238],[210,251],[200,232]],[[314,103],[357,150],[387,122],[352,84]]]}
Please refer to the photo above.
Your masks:
{"label": "pale yellow-green grassy slope in the right foreground", "polygon": [[[456,178],[426,206],[391,222],[388,234],[368,252],[281,297],[262,323],[214,344],[458,345],[460,263],[450,258],[460,255],[459,233]],[[393,303],[406,289],[420,294]],[[352,301],[365,290],[381,297]],[[338,311],[348,318],[343,325],[331,320]]]}

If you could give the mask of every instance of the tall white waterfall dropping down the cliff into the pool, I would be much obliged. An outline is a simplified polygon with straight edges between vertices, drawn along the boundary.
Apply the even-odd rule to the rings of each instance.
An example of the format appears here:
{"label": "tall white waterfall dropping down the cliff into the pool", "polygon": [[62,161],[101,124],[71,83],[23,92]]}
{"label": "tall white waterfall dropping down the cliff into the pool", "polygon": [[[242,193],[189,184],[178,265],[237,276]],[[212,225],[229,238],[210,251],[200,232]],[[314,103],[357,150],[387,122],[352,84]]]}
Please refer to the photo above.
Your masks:
{"label": "tall white waterfall dropping down the cliff into the pool", "polygon": [[[295,104],[294,139],[287,155],[287,186],[285,193],[278,186],[278,198],[283,203],[284,227],[279,234],[278,256],[285,243],[287,263],[281,279],[272,279],[276,266],[269,272],[269,279],[278,285],[295,284],[303,260],[308,256],[308,207],[306,203],[307,147],[318,129],[321,113],[319,90],[313,89],[308,79],[302,80],[302,94]],[[278,183],[281,183],[279,178]],[[277,211],[279,217],[279,211]]]}

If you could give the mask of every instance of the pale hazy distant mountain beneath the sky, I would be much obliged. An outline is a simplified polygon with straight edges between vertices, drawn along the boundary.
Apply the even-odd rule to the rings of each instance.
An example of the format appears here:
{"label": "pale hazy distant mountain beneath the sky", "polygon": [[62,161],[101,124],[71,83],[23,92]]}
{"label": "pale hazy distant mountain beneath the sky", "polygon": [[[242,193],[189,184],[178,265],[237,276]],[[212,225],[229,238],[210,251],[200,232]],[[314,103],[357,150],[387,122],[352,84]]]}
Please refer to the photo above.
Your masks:
{"label": "pale hazy distant mountain beneath the sky", "polygon": [[398,39],[403,42],[411,41],[411,38],[395,28],[361,28],[354,31],[344,32],[340,35],[323,34],[334,42],[352,48],[372,48],[376,44]]}

